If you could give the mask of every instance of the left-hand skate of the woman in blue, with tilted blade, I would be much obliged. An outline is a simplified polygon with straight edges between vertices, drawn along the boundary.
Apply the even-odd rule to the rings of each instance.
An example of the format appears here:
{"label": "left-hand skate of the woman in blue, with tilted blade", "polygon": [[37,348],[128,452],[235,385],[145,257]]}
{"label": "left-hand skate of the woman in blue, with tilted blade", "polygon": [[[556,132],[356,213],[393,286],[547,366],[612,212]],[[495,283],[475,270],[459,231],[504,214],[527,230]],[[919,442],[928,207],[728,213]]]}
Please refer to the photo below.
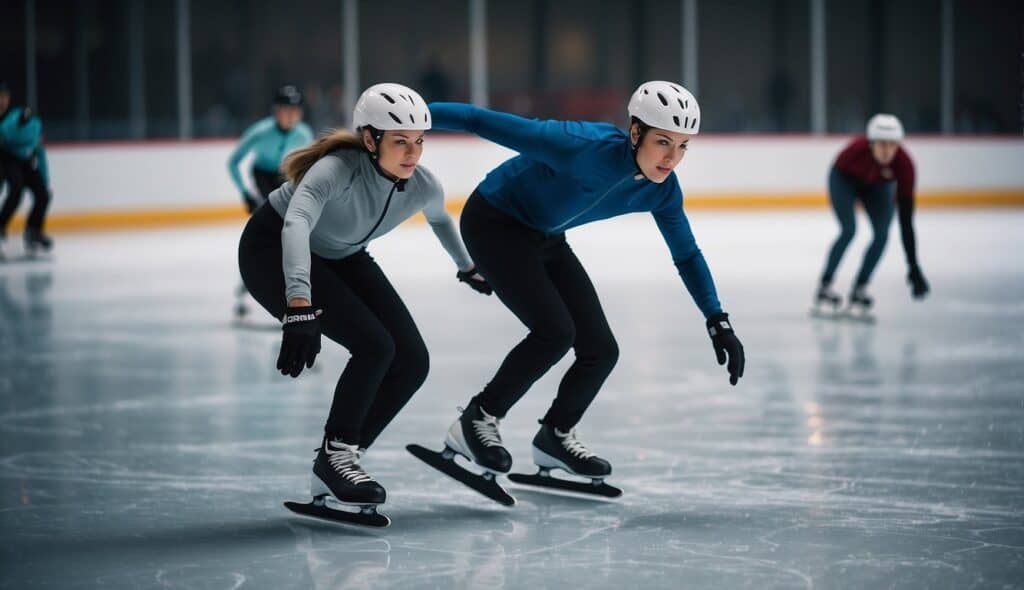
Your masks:
{"label": "left-hand skate of the woman in blue, with tilted blade", "polygon": [[[498,483],[496,477],[508,473],[512,468],[512,456],[502,446],[498,432],[500,421],[471,402],[458,420],[449,428],[444,437],[444,450],[440,453],[419,445],[409,445],[406,449],[417,459],[437,469],[441,473],[465,483],[495,502],[512,506],[515,498]],[[462,455],[479,467],[483,473],[477,474],[456,463],[456,455]]]}

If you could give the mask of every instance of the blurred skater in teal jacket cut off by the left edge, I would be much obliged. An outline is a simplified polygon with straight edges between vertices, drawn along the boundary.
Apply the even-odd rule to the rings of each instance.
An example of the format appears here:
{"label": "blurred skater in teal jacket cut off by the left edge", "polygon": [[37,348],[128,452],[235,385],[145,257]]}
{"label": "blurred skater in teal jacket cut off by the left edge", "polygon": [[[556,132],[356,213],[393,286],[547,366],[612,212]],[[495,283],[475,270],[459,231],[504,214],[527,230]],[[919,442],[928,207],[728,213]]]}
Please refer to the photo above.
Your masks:
{"label": "blurred skater in teal jacket cut off by the left edge", "polygon": [[11,106],[10,89],[3,82],[0,82],[0,169],[7,182],[7,198],[0,208],[0,259],[4,256],[7,225],[22,203],[26,187],[33,197],[25,227],[26,252],[30,256],[48,252],[53,240],[43,231],[50,205],[43,123],[28,107]]}

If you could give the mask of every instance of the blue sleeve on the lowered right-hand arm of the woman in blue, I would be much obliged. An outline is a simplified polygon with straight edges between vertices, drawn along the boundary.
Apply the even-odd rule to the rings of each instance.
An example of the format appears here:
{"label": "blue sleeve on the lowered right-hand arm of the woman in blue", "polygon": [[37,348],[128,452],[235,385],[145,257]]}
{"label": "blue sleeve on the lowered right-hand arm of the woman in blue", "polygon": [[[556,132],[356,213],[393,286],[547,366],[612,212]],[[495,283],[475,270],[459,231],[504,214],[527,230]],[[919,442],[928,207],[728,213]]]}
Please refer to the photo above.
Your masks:
{"label": "blue sleeve on the lowered right-hand arm of the woman in blue", "polygon": [[697,248],[697,242],[693,238],[690,229],[690,222],[683,213],[683,194],[677,187],[675,195],[668,199],[664,205],[651,212],[657,228],[660,229],[669,251],[672,252],[672,261],[679,269],[679,276],[686,285],[686,290],[693,297],[693,302],[697,304],[705,318],[718,313],[722,310],[722,304],[718,301],[718,293],[715,291],[715,281],[711,277],[711,269],[703,254]]}

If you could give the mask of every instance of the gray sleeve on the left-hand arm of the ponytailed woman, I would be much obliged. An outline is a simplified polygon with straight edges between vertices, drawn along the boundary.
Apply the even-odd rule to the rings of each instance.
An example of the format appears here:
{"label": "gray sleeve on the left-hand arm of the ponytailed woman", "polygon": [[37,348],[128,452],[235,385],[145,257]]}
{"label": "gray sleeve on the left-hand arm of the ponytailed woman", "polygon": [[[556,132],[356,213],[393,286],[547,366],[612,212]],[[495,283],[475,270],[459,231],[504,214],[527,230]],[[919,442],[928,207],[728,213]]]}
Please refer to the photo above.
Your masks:
{"label": "gray sleeve on the left-hand arm of the ponytailed woman", "polygon": [[285,226],[281,230],[286,300],[312,299],[309,235],[328,201],[341,196],[348,176],[348,167],[340,158],[327,156],[317,160],[295,187],[285,212]]}

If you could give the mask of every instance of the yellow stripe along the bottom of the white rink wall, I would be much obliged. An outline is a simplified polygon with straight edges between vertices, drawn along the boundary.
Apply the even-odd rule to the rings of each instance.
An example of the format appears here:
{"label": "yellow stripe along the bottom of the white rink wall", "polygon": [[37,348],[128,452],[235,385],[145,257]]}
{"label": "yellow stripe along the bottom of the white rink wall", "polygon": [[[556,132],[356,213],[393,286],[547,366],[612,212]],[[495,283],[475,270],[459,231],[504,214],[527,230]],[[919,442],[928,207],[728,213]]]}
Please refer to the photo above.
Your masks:
{"label": "yellow stripe along the bottom of the white rink wall", "polygon": [[[459,214],[465,198],[450,198],[447,210]],[[828,204],[824,193],[799,194],[689,194],[685,209],[689,210],[776,210],[776,209],[817,209]],[[919,193],[916,205],[927,209],[1004,208],[1024,207],[1024,188],[984,191],[933,191]],[[239,206],[207,207],[202,209],[145,209],[136,211],[97,211],[54,213],[46,219],[47,231],[100,231],[111,229],[141,229],[153,227],[173,227],[181,225],[202,225],[234,222],[247,217],[245,209]],[[422,221],[422,215],[416,218]],[[11,222],[12,231],[25,227],[25,216],[17,216]]]}

